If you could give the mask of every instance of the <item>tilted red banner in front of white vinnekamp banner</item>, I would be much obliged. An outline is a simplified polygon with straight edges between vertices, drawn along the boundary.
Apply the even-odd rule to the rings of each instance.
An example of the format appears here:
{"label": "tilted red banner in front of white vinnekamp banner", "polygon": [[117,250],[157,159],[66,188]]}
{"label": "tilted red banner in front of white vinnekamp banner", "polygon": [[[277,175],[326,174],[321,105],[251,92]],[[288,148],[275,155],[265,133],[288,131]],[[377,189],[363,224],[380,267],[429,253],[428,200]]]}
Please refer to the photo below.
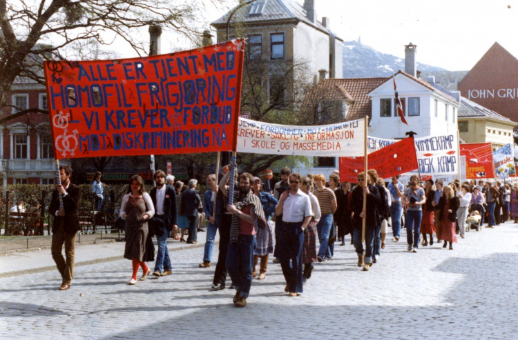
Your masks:
{"label": "tilted red banner in front of white vinnekamp banner", "polygon": [[[389,178],[418,168],[413,138],[405,138],[370,153],[367,157],[369,169],[376,169],[379,177]],[[363,172],[363,157],[340,157],[340,182],[356,183],[356,176]]]}

